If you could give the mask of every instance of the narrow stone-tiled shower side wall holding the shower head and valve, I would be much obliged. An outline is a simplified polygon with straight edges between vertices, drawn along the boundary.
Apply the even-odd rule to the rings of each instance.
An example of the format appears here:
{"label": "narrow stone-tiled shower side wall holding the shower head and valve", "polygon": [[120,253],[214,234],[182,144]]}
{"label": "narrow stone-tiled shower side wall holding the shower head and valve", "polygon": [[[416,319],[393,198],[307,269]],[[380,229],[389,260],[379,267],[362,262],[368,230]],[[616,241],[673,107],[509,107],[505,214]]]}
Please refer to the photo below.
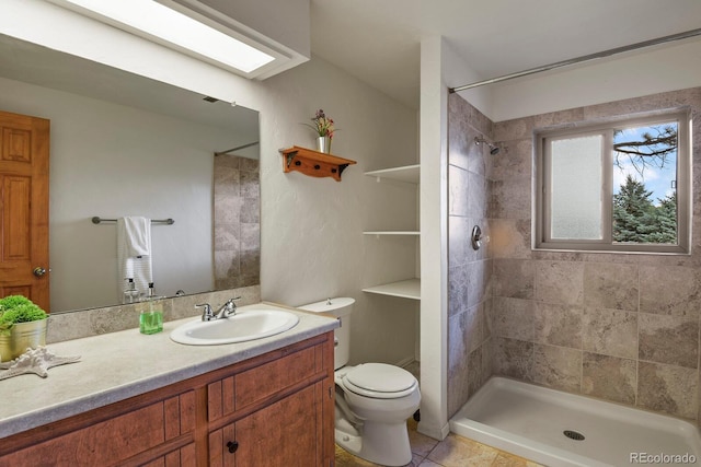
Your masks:
{"label": "narrow stone-tiled shower side wall holding the shower head and valve", "polygon": [[492,375],[489,311],[491,243],[472,248],[479,225],[490,236],[489,174],[493,156],[474,143],[492,136],[492,122],[457,94],[448,101],[448,413],[455,413]]}

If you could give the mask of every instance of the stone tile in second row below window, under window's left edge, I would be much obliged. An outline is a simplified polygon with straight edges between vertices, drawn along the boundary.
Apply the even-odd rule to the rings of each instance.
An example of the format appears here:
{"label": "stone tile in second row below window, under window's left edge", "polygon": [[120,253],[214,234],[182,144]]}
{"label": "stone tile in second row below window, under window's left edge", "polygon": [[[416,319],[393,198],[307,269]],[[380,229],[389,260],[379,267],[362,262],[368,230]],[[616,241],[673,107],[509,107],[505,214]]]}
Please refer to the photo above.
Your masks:
{"label": "stone tile in second row below window, under window's left edge", "polygon": [[535,341],[582,349],[582,307],[537,302],[533,315]]}

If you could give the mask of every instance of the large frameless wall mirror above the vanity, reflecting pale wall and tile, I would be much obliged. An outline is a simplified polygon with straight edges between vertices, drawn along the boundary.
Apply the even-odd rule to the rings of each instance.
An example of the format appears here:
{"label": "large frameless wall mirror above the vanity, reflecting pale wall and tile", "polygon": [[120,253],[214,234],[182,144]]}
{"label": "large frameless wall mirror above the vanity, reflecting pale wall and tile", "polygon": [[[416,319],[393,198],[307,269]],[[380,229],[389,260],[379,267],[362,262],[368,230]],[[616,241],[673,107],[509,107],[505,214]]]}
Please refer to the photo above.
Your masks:
{"label": "large frameless wall mirror above the vanity, reflecting pale wall and tile", "polygon": [[51,313],[122,302],[93,217],[175,221],[151,229],[158,295],[260,282],[257,112],[3,35],[0,84],[0,110],[51,125]]}

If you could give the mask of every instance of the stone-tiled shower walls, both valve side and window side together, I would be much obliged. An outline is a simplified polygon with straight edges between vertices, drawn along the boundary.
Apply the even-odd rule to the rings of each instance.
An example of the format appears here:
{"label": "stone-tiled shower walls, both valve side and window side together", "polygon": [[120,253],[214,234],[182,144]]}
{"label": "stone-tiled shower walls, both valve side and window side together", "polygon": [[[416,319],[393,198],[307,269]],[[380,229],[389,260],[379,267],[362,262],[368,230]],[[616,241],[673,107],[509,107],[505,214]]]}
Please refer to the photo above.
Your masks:
{"label": "stone-tiled shower walls, both valve side and window side together", "polygon": [[[701,89],[492,122],[449,97],[448,409],[492,375],[699,420],[700,208],[688,256],[533,252],[536,128],[689,106]],[[501,147],[490,155],[475,137]],[[693,157],[693,199],[701,159]],[[473,225],[490,242],[475,252]]]}

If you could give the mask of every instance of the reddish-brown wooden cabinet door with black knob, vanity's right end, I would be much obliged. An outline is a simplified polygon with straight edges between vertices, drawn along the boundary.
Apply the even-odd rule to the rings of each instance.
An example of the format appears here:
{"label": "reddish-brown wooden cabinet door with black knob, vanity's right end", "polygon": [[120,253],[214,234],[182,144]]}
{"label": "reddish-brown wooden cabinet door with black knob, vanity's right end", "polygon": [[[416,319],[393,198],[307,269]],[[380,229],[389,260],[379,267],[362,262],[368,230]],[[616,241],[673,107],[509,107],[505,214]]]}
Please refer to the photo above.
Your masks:
{"label": "reddish-brown wooden cabinet door with black knob, vanity's right end", "polygon": [[[209,435],[211,467],[324,465],[323,382]],[[232,451],[232,452],[230,452]]]}

